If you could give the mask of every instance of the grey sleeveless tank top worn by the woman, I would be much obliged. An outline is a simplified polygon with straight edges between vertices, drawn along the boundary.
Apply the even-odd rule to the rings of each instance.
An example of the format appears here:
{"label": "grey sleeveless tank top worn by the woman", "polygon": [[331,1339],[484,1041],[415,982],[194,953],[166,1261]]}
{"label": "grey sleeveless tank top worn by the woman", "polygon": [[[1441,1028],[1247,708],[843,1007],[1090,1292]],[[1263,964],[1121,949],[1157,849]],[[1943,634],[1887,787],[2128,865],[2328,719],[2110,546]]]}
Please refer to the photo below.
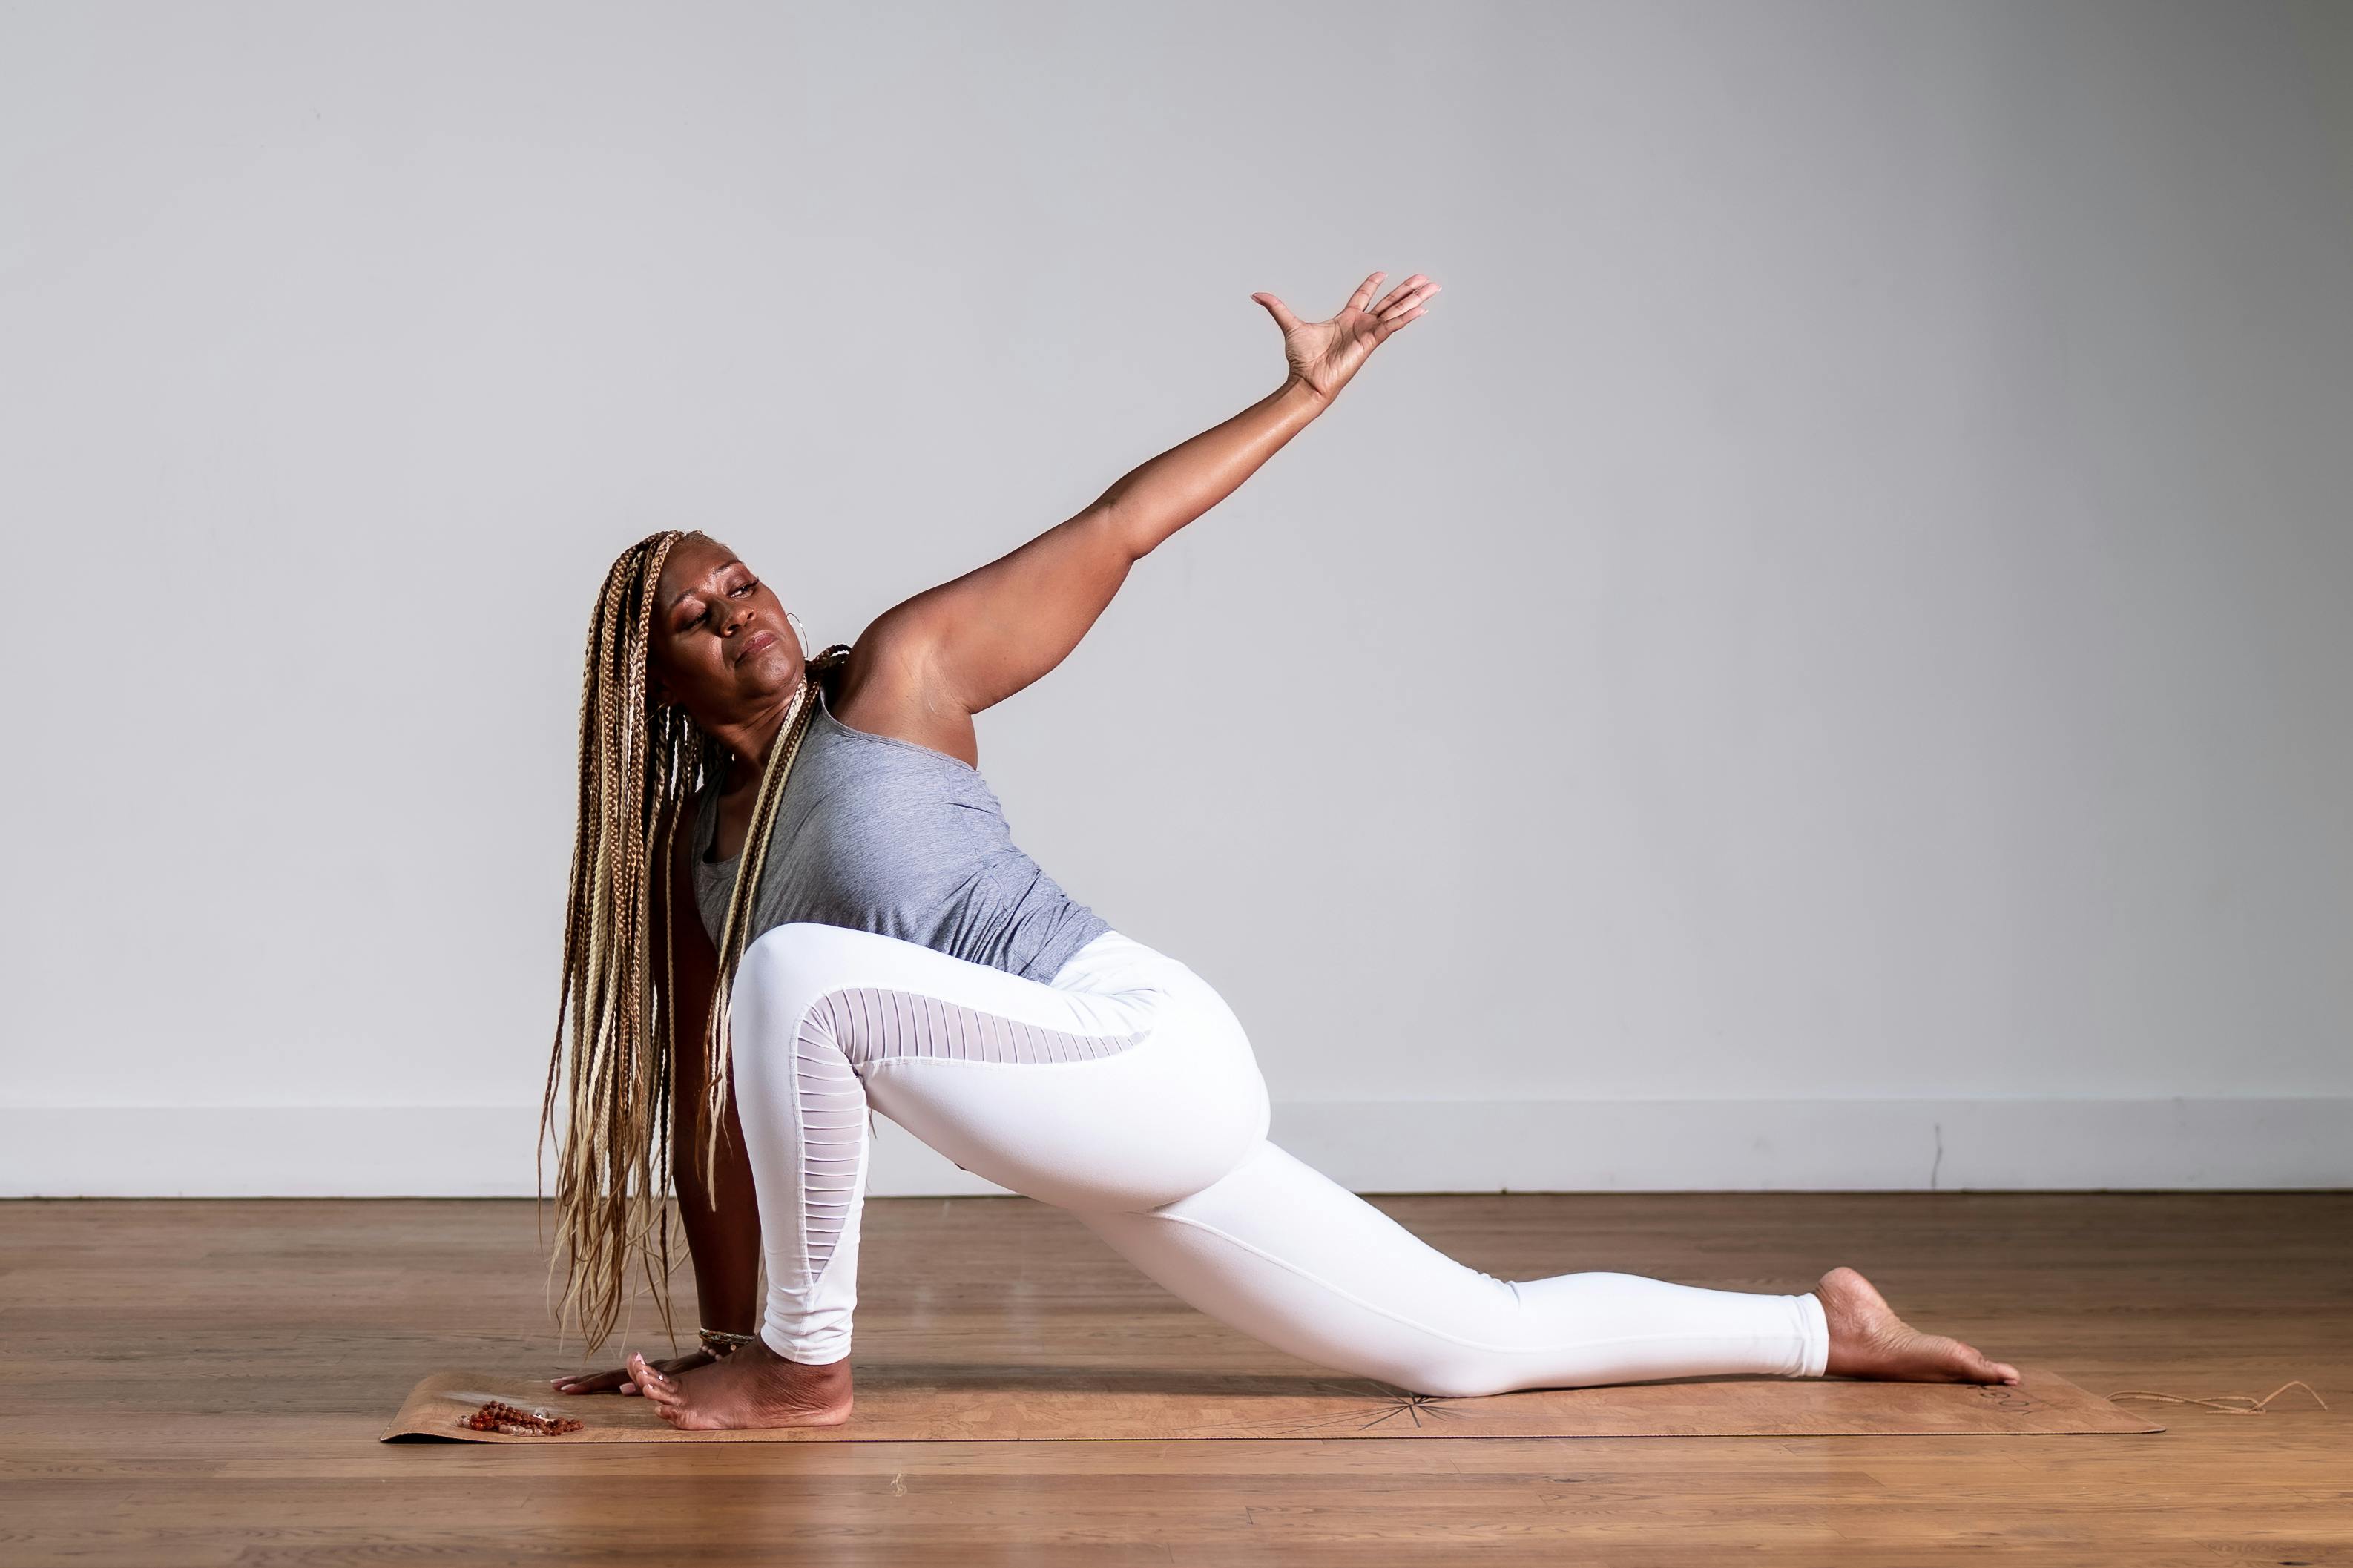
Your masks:
{"label": "grey sleeveless tank top worn by the woman", "polygon": [[[826,706],[824,683],[812,683],[816,711],[776,803],[744,946],[772,925],[814,921],[1042,982],[1111,930],[1014,848],[1005,808],[976,768],[845,725]],[[741,859],[708,859],[732,760],[720,746],[706,751],[694,800],[694,902],[713,944]]]}

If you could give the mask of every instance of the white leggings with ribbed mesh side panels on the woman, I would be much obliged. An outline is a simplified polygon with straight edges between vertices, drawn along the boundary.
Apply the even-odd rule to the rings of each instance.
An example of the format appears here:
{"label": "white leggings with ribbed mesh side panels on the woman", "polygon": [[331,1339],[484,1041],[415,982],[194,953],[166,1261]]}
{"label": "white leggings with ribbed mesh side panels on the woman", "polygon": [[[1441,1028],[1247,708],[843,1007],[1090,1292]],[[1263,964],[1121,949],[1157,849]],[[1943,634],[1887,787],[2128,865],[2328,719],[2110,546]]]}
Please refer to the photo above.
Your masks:
{"label": "white leggings with ribbed mesh side panels on the woman", "polygon": [[734,982],[736,1114],[767,1311],[791,1361],[849,1354],[866,1109],[1071,1210],[1200,1311],[1417,1394],[1762,1373],[1819,1377],[1814,1295],[1635,1274],[1499,1281],[1266,1142],[1266,1081],[1224,998],[1122,932],[1054,979],[840,925],[762,932]]}

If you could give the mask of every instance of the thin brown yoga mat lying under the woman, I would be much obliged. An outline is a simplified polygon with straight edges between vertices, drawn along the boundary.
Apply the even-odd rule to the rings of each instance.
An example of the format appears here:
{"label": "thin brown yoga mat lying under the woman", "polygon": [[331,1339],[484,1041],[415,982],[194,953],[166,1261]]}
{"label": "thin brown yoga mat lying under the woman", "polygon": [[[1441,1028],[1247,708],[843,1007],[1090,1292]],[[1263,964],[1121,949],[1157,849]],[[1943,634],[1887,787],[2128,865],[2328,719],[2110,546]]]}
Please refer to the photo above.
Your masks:
{"label": "thin brown yoga mat lying under the woman", "polygon": [[[551,1394],[546,1380],[433,1373],[384,1441],[475,1443],[1040,1443],[1115,1439],[1454,1439],[1454,1436],[2031,1436],[2165,1431],[2057,1373],[2017,1387],[1711,1377],[1605,1389],[1424,1398],[1365,1377],[1217,1375],[1016,1366],[859,1368],[840,1427],[678,1431],[635,1394]],[[586,1422],[562,1436],[471,1431],[482,1401]]]}

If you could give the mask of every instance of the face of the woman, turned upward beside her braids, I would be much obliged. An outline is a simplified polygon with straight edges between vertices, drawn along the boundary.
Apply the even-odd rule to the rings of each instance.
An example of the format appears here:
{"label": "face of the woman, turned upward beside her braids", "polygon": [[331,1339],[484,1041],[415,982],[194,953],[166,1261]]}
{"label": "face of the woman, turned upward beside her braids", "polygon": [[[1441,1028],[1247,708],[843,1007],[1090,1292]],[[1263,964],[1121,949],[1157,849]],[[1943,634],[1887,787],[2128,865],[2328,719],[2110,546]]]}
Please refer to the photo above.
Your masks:
{"label": "face of the woman, turned upward beside her braids", "polygon": [[704,730],[746,723],[791,697],[807,659],[784,603],[708,534],[671,546],[654,584],[647,673]]}

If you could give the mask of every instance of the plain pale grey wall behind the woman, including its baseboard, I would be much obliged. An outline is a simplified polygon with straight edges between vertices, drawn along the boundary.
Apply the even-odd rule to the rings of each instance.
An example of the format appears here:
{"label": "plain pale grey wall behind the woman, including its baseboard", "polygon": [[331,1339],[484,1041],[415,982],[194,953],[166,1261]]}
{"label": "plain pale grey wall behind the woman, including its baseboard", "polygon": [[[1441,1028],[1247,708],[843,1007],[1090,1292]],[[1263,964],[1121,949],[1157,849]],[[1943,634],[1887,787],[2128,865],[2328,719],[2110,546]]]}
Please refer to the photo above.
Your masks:
{"label": "plain pale grey wall behind the woman, including its baseboard", "polygon": [[1278,1142],[2353,1180],[2346,7],[59,2],[0,1191],[529,1191],[607,560],[849,640],[1372,268],[1447,292],[981,720]]}

